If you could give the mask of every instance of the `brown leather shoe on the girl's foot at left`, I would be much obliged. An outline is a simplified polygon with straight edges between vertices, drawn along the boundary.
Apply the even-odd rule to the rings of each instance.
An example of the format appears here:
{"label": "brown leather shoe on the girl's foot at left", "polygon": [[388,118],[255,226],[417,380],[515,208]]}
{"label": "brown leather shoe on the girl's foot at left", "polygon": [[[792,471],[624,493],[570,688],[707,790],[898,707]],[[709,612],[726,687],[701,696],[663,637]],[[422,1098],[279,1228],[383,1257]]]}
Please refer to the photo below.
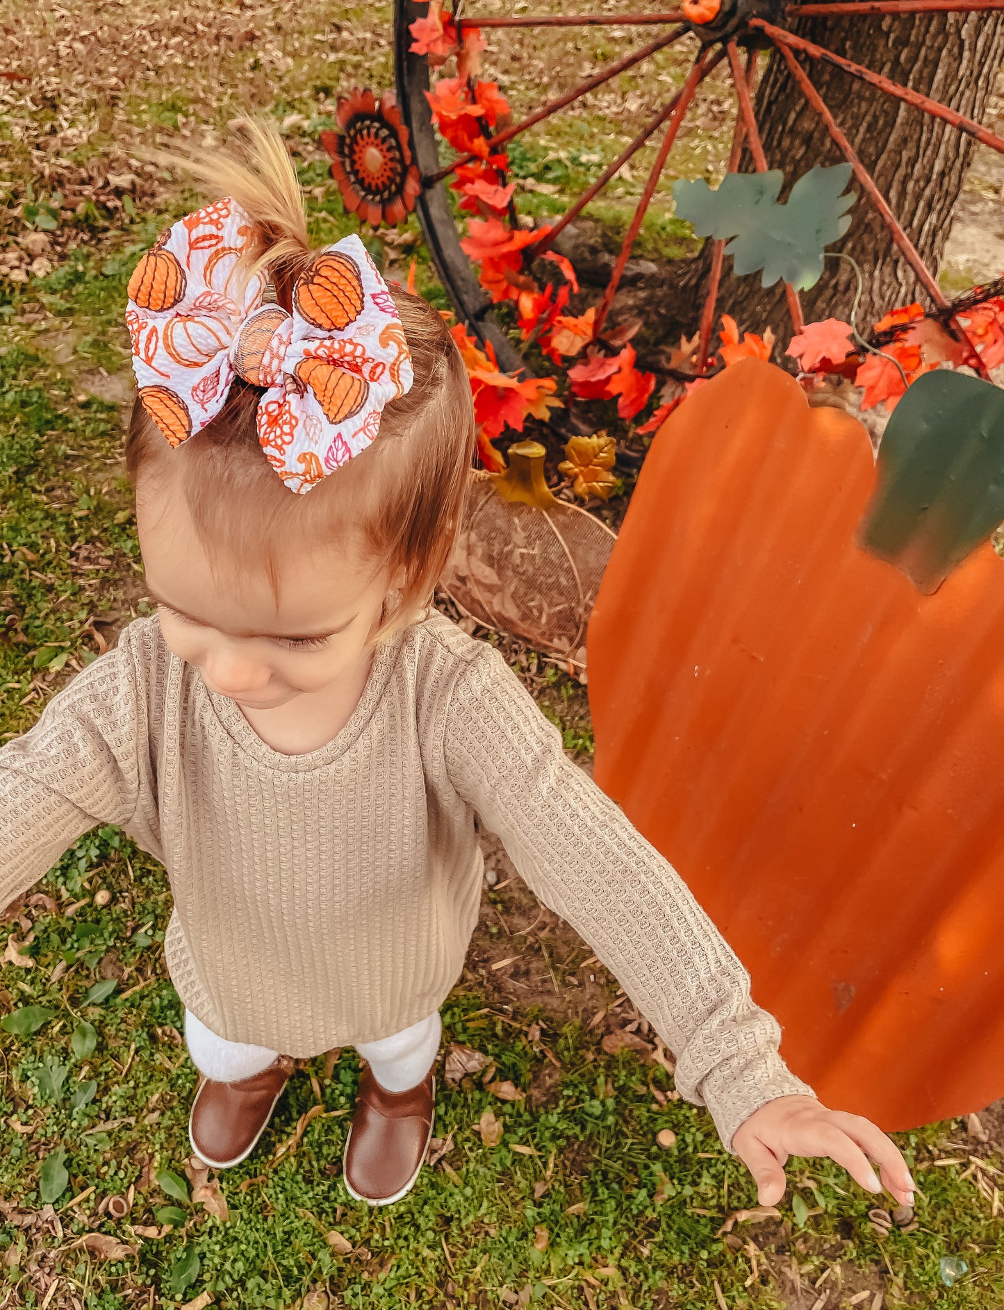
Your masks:
{"label": "brown leather shoe on the girl's foot at left", "polygon": [[229,1169],[246,1159],[258,1145],[292,1069],[290,1056],[278,1056],[262,1073],[241,1082],[203,1078],[189,1117],[189,1141],[199,1159],[212,1169]]}

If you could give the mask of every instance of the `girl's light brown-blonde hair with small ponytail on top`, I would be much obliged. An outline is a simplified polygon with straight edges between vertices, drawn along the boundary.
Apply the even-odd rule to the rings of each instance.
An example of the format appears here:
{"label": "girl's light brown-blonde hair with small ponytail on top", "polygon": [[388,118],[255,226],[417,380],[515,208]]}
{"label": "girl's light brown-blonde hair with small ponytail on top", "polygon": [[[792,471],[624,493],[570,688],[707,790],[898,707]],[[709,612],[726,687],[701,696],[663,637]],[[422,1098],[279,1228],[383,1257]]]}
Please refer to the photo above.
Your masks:
{"label": "girl's light brown-blonde hair with small ponytail on top", "polygon": [[[161,156],[164,157],[164,156]],[[170,156],[215,196],[231,195],[254,225],[242,270],[267,270],[280,304],[317,252],[292,161],[278,134],[245,123],[229,153]],[[199,541],[212,561],[219,553],[262,567],[279,590],[279,544],[298,549],[343,545],[362,562],[400,578],[396,608],[375,641],[387,641],[419,617],[454,546],[468,486],[474,443],[471,385],[442,316],[419,296],[391,287],[412,351],[414,383],[383,411],[376,440],[360,455],[295,495],[267,462],[256,414],[262,392],[235,379],[220,413],[172,448],[139,400],[126,436],[126,468],[180,485]]]}

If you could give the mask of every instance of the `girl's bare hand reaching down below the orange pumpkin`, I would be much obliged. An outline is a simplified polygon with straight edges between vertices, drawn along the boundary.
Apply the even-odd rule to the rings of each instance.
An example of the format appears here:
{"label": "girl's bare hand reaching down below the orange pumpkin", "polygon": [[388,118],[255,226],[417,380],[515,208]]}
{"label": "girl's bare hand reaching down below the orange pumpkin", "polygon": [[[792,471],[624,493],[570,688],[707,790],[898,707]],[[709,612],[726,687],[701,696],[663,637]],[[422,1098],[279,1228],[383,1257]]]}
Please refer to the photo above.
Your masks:
{"label": "girl's bare hand reaching down below the orange pumpkin", "polygon": [[756,1180],[760,1205],[784,1196],[789,1155],[828,1155],[869,1192],[885,1184],[902,1205],[914,1204],[916,1184],[895,1142],[868,1119],[827,1110],[813,1096],[777,1096],[760,1106],[735,1129],[733,1150]]}

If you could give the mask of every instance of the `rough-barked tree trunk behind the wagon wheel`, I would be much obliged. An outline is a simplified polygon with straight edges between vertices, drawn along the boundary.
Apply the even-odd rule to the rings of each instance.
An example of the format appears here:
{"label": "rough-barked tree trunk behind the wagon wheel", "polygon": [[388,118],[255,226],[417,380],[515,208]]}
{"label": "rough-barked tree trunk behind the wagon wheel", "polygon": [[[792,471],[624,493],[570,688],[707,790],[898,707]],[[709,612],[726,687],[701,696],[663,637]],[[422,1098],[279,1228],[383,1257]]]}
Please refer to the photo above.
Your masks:
{"label": "rough-barked tree trunk behind the wagon wheel", "polygon": [[[803,18],[794,30],[976,122],[983,119],[997,68],[1004,62],[1004,14],[1000,13]],[[973,155],[971,138],[838,68],[807,63],[802,56],[800,63],[921,259],[936,275]],[[768,165],[785,174],[782,198],[813,165],[843,161],[839,148],[776,54],[756,94],[756,119]],[[744,149],[739,169],[750,172],[752,168],[750,152]],[[861,269],[864,295],[857,326],[866,331],[894,307],[912,300],[928,305],[929,297],[894,245],[864,187],[855,178],[851,187],[857,193],[851,227],[830,249],[845,250]],[[693,330],[693,307],[703,304],[710,246],[712,242],[706,242],[689,267],[682,270],[680,286],[687,292],[680,304],[682,328],[688,312]],[[806,322],[851,316],[857,292],[853,269],[844,259],[827,258],[824,265],[823,276],[801,296]],[[784,284],[779,282],[763,288],[756,274],[735,278],[729,258],[722,274],[718,314],[722,310],[733,314],[741,329],[763,331],[769,326],[784,342],[790,337]]]}

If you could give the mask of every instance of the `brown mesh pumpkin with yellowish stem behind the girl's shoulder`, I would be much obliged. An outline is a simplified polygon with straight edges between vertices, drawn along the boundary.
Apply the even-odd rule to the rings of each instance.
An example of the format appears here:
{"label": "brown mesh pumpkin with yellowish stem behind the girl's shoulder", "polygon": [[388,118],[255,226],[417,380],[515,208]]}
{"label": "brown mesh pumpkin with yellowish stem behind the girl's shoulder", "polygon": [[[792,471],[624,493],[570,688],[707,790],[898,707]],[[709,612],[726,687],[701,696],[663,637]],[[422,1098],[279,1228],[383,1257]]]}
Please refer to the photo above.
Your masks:
{"label": "brown mesh pumpkin with yellowish stem behind the girl's shoulder", "polygon": [[472,470],[467,514],[440,586],[477,622],[585,675],[589,616],[616,534],[558,500],[537,441],[509,448],[503,473]]}

